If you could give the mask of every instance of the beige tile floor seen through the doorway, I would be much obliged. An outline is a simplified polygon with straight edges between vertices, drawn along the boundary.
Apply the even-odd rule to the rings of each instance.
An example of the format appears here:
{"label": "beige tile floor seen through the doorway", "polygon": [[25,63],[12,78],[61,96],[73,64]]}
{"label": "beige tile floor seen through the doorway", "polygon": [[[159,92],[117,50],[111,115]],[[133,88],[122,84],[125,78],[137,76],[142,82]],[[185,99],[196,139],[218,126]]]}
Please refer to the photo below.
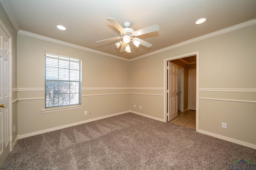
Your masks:
{"label": "beige tile floor seen through the doorway", "polygon": [[196,130],[196,111],[186,110],[184,112],[178,111],[178,117],[172,119],[171,123],[189,127]]}

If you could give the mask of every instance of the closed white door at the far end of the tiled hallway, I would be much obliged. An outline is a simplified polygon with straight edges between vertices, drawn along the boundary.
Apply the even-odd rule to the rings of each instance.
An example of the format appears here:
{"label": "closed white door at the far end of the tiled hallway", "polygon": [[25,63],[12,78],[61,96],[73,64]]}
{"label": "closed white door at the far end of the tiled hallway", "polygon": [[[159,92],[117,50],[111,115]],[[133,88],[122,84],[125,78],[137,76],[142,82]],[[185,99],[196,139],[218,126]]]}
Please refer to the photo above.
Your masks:
{"label": "closed white door at the far end of the tiled hallway", "polygon": [[196,110],[196,69],[188,70],[189,109]]}

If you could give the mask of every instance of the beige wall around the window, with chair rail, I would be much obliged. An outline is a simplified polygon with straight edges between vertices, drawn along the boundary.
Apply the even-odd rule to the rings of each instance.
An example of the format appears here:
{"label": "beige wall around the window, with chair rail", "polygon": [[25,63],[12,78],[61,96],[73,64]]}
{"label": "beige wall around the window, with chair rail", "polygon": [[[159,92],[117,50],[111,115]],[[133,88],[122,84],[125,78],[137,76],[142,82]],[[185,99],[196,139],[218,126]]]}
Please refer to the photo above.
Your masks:
{"label": "beige wall around the window, with chair rail", "polygon": [[[18,33],[19,135],[129,111],[129,62]],[[44,52],[82,59],[83,108],[42,113]],[[118,83],[117,78],[122,82]],[[84,115],[84,111],[88,111]],[[89,112],[91,114],[89,114]]]}

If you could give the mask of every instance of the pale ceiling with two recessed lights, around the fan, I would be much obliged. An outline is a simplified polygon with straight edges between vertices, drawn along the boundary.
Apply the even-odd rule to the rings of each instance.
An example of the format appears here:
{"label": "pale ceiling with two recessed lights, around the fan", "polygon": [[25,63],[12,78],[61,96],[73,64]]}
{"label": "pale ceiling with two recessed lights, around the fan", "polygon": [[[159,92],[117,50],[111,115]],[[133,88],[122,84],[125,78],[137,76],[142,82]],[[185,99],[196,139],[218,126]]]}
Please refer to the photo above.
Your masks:
{"label": "pale ceiling with two recessed lights, around the fan", "polygon": [[[256,17],[256,0],[0,0],[16,30],[28,31],[110,55],[132,59],[218,31]],[[206,17],[201,25],[195,21]],[[138,36],[153,46],[131,46],[119,52],[115,41],[96,41],[120,36],[106,18],[121,26],[130,21],[135,31],[157,24],[159,31]],[[64,25],[66,31],[56,28]],[[18,31],[17,30],[17,31]]]}

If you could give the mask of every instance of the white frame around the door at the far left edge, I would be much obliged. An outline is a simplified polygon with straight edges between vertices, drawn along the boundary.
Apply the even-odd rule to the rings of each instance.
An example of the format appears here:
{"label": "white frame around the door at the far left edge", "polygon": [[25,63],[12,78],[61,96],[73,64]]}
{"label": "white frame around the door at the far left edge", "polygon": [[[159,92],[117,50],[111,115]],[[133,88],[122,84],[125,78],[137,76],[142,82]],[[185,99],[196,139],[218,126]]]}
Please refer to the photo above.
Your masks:
{"label": "white frame around the door at the far left edge", "polygon": [[10,142],[10,151],[12,151],[12,35],[9,33],[8,29],[4,26],[4,23],[0,20],[0,27],[4,30],[6,35],[9,38],[9,52],[8,52],[8,57],[9,57],[9,66],[8,66],[8,73],[9,73],[9,87],[8,87],[8,93],[9,93],[9,111],[10,111],[10,122],[9,124],[9,142]]}

